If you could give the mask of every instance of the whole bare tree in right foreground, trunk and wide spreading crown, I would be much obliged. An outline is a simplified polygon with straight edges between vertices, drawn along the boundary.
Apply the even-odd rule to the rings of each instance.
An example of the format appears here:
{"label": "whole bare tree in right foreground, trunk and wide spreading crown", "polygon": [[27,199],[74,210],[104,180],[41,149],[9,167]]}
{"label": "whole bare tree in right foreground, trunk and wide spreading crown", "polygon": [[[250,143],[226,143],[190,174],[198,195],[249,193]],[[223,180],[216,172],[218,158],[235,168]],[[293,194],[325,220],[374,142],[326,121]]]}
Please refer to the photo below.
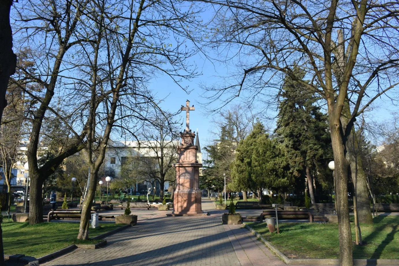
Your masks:
{"label": "whole bare tree in right foreground, trunk and wide spreading crown", "polygon": [[[347,142],[356,117],[398,85],[399,12],[396,2],[373,0],[218,1],[208,28],[209,46],[223,51],[242,73],[227,85],[209,87],[210,100],[265,100],[288,75],[318,93],[328,109],[334,152],[340,264],[352,266],[348,211]],[[249,56],[250,55],[250,56]],[[308,73],[305,82],[294,67]],[[244,69],[244,71],[242,71]],[[233,73],[238,77],[238,73]],[[222,104],[222,105],[223,105]]]}

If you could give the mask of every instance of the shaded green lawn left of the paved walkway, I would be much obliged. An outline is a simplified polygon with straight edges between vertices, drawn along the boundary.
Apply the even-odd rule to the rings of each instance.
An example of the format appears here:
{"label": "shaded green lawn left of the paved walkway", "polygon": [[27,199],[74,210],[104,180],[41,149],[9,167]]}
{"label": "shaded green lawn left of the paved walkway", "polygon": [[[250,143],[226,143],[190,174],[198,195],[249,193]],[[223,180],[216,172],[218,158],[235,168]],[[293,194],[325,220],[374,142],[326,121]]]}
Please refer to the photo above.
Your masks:
{"label": "shaded green lawn left of the paved walkway", "polygon": [[[6,220],[5,220],[6,221]],[[97,229],[89,230],[89,237],[111,231],[123,225],[100,224]],[[79,232],[78,223],[2,223],[4,254],[25,254],[41,256],[70,246]]]}

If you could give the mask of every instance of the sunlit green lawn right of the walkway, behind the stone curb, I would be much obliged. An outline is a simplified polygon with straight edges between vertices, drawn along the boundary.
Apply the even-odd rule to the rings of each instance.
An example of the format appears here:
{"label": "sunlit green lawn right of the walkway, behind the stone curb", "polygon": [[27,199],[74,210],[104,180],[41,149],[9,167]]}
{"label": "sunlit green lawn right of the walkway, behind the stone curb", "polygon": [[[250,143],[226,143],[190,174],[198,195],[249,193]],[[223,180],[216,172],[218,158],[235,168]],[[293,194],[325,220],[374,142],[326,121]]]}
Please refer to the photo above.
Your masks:
{"label": "sunlit green lawn right of the walkway, behind the stone curb", "polygon": [[[366,244],[354,245],[354,258],[399,259],[399,216],[380,215],[373,220],[373,225],[360,225]],[[338,224],[281,223],[280,234],[269,233],[266,223],[248,225],[288,258],[339,258]]]}

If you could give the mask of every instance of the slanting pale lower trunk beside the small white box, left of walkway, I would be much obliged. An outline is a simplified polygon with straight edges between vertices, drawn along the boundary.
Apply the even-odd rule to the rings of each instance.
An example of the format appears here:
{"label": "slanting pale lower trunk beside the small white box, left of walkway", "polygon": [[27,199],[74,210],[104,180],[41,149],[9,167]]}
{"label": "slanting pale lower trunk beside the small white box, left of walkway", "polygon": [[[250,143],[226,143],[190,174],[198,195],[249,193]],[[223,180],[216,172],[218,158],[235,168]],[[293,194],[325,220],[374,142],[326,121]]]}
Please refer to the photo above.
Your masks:
{"label": "slanting pale lower trunk beside the small white box, left of walkway", "polygon": [[[93,169],[94,170],[94,169]],[[79,234],[77,235],[77,239],[87,240],[89,239],[89,222],[90,222],[90,212],[91,206],[93,205],[93,199],[95,196],[95,191],[97,187],[97,173],[98,170],[94,170],[94,172],[90,173],[90,183],[89,189],[87,189],[87,194],[85,200],[83,201],[82,214],[80,218],[80,226],[79,226]]]}

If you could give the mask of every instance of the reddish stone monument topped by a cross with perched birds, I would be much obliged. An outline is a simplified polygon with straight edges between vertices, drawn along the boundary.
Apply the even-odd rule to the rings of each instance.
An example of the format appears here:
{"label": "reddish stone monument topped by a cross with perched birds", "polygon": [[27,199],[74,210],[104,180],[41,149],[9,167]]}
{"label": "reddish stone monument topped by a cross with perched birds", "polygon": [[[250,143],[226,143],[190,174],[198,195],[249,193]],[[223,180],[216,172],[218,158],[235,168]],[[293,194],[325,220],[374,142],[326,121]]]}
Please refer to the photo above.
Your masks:
{"label": "reddish stone monument topped by a cross with perched birds", "polygon": [[186,106],[180,110],[186,111],[186,130],[180,132],[182,142],[178,146],[178,162],[176,167],[176,190],[173,199],[173,215],[206,215],[201,209],[201,191],[199,190],[199,168],[202,164],[197,160],[197,149],[194,145],[195,133],[190,130],[190,107],[187,100]]}

